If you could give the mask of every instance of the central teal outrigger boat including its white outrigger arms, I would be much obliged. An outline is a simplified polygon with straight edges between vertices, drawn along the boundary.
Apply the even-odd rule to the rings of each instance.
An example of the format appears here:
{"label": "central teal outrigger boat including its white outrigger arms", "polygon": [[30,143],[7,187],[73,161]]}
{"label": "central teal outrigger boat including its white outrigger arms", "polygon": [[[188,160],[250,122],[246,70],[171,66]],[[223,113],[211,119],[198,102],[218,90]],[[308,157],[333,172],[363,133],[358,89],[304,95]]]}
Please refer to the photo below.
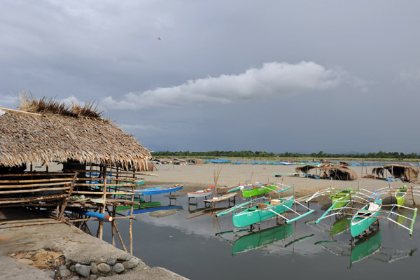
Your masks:
{"label": "central teal outrigger boat including its white outrigger arms", "polygon": [[[288,190],[289,188],[285,189]],[[284,191],[284,190],[281,190]],[[281,191],[277,192],[280,193]],[[311,214],[314,210],[305,207],[303,204],[296,202],[294,200],[294,196],[291,195],[290,197],[279,198],[277,200],[270,200],[269,202],[265,203],[256,203],[256,200],[263,199],[264,197],[259,197],[254,200],[249,200],[248,202],[244,202],[241,204],[236,205],[226,211],[216,214],[217,217],[223,216],[225,214],[231,213],[233,211],[242,210],[239,213],[233,214],[232,222],[236,228],[246,227],[248,225],[253,225],[255,223],[260,223],[261,221],[265,221],[269,218],[273,217],[280,217],[283,218],[286,223],[292,223],[297,221],[298,219]],[[300,204],[302,207],[308,209],[304,214],[299,214],[291,207],[293,203]],[[293,211],[297,217],[288,219],[283,214],[286,211]]]}

